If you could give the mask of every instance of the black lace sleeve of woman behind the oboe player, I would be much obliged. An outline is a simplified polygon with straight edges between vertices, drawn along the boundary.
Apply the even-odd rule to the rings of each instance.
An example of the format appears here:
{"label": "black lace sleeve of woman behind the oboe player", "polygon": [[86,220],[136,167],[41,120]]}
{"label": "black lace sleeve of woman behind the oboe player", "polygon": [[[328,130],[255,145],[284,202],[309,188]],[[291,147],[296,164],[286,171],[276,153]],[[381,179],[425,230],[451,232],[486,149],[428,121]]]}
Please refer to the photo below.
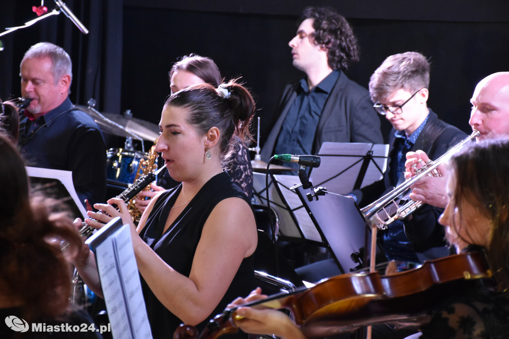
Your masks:
{"label": "black lace sleeve of woman behind the oboe player", "polygon": [[228,173],[232,177],[233,182],[244,191],[250,200],[253,191],[253,169],[251,167],[249,150],[240,140],[235,143],[231,168]]}

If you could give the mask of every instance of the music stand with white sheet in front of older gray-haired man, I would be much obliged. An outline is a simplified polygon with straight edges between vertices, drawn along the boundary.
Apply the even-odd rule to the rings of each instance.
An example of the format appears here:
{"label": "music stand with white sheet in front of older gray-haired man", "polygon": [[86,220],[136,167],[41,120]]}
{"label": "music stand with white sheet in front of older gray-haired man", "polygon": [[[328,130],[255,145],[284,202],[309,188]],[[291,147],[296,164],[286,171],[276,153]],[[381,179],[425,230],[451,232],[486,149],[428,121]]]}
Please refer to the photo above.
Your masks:
{"label": "music stand with white sheet in front of older gray-haired man", "polygon": [[41,191],[45,198],[53,198],[70,211],[70,217],[88,218],[72,182],[72,172],[48,168],[25,167],[32,189]]}

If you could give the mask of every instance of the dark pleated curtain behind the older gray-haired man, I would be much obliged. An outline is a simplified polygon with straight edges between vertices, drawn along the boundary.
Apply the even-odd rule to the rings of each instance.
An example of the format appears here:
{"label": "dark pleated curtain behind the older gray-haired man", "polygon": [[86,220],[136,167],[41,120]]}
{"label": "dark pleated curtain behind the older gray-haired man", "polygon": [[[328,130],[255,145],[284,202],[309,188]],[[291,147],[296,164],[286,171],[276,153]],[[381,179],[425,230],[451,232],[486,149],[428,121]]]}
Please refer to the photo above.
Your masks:
{"label": "dark pleated curtain behind the older gray-haired man", "polygon": [[[71,100],[86,104],[95,98],[101,109],[118,111],[122,83],[122,0],[66,0],[65,4],[89,29],[83,35],[64,14],[52,15],[34,25],[0,37],[0,96],[3,99],[21,95],[19,63],[30,46],[48,41],[63,47],[73,62]],[[4,27],[23,25],[37,18],[32,6],[39,0],[3,0],[0,22]],[[46,0],[48,12],[55,7]]]}

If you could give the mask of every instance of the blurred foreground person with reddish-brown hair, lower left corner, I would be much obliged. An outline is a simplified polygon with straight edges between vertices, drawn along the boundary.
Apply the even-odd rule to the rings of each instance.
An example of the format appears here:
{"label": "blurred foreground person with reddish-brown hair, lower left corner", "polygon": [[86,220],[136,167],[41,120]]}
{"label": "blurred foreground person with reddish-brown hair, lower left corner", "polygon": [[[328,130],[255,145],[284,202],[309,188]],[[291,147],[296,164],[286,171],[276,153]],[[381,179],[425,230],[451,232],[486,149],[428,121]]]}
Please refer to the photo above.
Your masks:
{"label": "blurred foreground person with reddish-brown hair, lower left corner", "polygon": [[[23,160],[10,140],[0,135],[0,337],[90,337],[96,332],[33,332],[32,323],[48,326],[90,324],[71,310],[71,265],[81,239],[72,220],[48,213],[48,199],[30,196]],[[61,250],[61,242],[70,245]],[[6,320],[4,322],[4,320]]]}

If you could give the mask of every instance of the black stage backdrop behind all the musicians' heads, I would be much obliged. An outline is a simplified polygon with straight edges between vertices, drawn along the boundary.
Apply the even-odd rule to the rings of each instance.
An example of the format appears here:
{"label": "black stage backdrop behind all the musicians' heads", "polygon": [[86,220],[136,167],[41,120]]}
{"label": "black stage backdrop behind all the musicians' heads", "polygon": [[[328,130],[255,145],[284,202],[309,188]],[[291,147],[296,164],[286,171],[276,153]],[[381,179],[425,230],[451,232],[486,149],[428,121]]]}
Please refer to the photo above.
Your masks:
{"label": "black stage backdrop behind all the musicians' heads", "polygon": [[[351,23],[361,60],[347,75],[367,87],[370,75],[394,53],[418,51],[432,61],[429,106],[469,133],[469,99],[485,76],[509,71],[509,17],[505,0],[188,1],[67,0],[90,30],[83,35],[63,14],[0,37],[0,97],[20,96],[19,62],[34,43],[64,47],[73,60],[71,100],[94,97],[100,111],[157,124],[169,94],[167,72],[181,55],[212,57],[223,76],[242,76],[257,97],[262,145],[286,83],[302,73],[288,42],[303,8],[332,6]],[[36,17],[39,0],[2,0],[0,27]],[[51,10],[54,2],[46,0]],[[383,119],[385,120],[385,119]],[[390,125],[384,121],[384,134]],[[116,145],[108,145],[117,147]]]}

